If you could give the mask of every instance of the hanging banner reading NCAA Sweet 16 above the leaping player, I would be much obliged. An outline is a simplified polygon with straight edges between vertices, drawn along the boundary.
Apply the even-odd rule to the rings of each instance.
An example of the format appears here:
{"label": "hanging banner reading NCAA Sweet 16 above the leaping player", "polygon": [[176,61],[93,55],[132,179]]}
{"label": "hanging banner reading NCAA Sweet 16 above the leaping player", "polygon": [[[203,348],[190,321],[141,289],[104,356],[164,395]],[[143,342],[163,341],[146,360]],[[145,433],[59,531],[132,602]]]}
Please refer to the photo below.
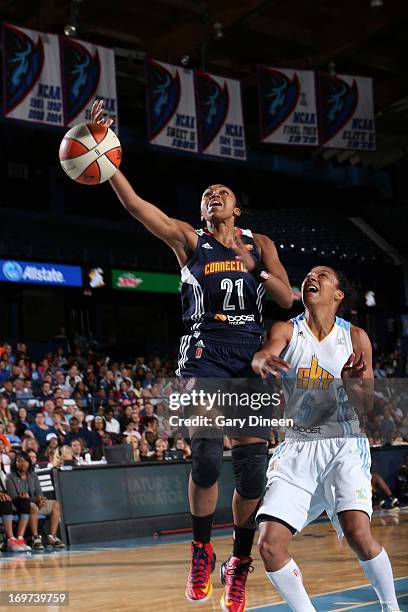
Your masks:
{"label": "hanging banner reading NCAA Sweet 16 above the leaping player", "polygon": [[193,71],[148,59],[146,81],[150,144],[197,153]]}

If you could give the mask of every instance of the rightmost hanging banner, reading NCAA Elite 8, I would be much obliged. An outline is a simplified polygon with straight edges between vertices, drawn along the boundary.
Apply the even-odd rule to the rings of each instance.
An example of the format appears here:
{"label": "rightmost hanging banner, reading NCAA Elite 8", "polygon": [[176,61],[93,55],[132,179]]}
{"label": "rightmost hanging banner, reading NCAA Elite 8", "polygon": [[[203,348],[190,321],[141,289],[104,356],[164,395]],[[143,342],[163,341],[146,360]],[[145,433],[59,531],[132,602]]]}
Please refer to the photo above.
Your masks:
{"label": "rightmost hanging banner, reading NCAA Elite 8", "polygon": [[321,74],[320,142],[335,149],[375,150],[372,79]]}

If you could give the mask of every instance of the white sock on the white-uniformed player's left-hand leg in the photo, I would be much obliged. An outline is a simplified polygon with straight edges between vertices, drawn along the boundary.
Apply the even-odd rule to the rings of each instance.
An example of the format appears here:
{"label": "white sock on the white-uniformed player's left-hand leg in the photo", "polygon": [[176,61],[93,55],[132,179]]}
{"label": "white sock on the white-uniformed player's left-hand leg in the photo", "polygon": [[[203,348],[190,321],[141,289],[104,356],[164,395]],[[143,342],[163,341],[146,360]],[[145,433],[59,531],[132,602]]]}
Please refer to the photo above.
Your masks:
{"label": "white sock on the white-uniformed player's left-hand leg in the photo", "polygon": [[280,570],[266,574],[293,612],[316,612],[303,586],[302,572],[293,559]]}

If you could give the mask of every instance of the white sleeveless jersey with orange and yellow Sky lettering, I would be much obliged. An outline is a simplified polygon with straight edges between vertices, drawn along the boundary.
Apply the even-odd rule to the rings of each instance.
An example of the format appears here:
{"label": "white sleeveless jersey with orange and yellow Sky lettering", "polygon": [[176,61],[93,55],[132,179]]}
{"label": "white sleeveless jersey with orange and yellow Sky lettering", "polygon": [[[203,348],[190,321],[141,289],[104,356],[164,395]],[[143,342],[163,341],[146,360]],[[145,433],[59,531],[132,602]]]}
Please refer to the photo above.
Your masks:
{"label": "white sleeveless jersey with orange and yellow Sky lettering", "polygon": [[353,352],[350,323],[336,317],[331,332],[319,341],[304,313],[291,321],[292,338],[282,353],[292,366],[284,378],[285,417],[294,421],[286,437],[316,439],[360,433],[341,380],[343,366]]}

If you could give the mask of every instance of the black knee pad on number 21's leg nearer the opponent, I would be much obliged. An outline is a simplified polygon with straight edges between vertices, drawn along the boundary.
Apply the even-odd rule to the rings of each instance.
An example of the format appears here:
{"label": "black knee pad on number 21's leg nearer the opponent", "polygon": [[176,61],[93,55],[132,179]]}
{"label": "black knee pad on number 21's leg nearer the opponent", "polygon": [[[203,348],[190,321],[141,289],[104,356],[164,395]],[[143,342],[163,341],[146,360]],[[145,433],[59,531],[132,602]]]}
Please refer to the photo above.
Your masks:
{"label": "black knee pad on number 21's leg nearer the opponent", "polygon": [[239,444],[232,448],[231,454],[237,492],[246,499],[262,497],[268,458],[266,444]]}

